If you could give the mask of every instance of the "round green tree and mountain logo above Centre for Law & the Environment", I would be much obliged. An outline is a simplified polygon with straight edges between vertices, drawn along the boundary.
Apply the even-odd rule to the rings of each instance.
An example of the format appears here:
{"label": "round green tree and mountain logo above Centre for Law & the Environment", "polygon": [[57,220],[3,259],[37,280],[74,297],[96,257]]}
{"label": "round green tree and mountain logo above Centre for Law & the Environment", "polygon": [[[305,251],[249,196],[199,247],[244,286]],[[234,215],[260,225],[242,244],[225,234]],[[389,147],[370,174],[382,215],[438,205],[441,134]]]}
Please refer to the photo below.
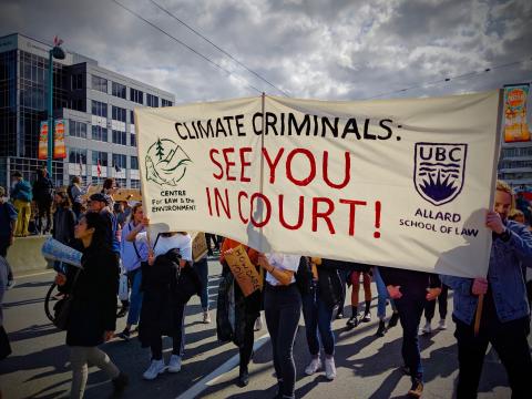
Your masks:
{"label": "round green tree and mountain logo above Centre for Law & the Environment", "polygon": [[183,149],[172,140],[157,139],[147,150],[145,157],[146,180],[161,186],[176,186],[191,162]]}

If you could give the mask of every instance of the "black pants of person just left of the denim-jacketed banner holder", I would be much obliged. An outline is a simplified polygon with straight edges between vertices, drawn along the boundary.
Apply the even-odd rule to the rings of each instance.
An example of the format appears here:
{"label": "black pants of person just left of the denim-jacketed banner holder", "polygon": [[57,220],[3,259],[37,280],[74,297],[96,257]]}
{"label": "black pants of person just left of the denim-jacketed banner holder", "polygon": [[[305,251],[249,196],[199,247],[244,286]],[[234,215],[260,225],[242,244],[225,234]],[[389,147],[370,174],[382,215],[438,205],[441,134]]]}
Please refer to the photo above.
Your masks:
{"label": "black pants of person just left of the denim-jacketed banner holder", "polygon": [[412,381],[416,379],[422,380],[423,366],[421,365],[421,354],[419,351],[418,331],[427,300],[422,297],[411,297],[408,293],[403,293],[402,297],[395,299],[395,301],[402,326],[402,359],[410,369]]}

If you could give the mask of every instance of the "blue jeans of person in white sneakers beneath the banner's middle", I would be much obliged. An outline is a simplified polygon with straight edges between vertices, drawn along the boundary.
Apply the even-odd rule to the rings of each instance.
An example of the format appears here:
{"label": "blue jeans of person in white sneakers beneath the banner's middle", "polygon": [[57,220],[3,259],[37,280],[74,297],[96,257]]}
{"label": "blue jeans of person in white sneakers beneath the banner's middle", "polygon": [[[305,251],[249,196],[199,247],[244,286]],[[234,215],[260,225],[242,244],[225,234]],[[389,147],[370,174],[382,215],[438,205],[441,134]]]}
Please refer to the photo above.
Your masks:
{"label": "blue jeans of person in white sneakers beneath the banner's middle", "polygon": [[310,355],[317,356],[319,354],[318,330],[325,355],[335,355],[335,335],[331,328],[334,308],[325,305],[319,298],[319,291],[316,288],[310,294],[304,295],[301,301]]}

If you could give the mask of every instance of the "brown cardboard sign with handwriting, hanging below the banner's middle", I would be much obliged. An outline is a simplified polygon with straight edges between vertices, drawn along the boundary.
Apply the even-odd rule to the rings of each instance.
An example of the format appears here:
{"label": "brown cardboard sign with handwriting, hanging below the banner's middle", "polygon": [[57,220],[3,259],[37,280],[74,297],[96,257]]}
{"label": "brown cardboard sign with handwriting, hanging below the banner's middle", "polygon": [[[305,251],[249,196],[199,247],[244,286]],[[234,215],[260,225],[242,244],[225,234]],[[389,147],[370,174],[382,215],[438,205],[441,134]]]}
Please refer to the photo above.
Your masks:
{"label": "brown cardboard sign with handwriting, hanging below the banner's middle", "polygon": [[263,289],[263,280],[244,246],[238,245],[224,256],[244,296],[247,297],[257,289]]}

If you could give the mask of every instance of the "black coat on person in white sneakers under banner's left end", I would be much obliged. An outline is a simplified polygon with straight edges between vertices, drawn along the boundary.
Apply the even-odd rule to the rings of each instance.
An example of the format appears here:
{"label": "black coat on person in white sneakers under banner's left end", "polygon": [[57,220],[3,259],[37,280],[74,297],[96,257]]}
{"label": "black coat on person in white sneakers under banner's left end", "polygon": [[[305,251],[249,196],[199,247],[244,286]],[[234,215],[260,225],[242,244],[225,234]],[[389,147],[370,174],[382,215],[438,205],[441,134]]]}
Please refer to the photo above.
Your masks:
{"label": "black coat on person in white sneakers under banner's left end", "polygon": [[181,329],[180,307],[201,295],[202,283],[191,265],[180,269],[180,252],[170,249],[155,258],[153,266],[142,265],[142,309],[139,339],[143,347],[153,338],[173,336]]}

